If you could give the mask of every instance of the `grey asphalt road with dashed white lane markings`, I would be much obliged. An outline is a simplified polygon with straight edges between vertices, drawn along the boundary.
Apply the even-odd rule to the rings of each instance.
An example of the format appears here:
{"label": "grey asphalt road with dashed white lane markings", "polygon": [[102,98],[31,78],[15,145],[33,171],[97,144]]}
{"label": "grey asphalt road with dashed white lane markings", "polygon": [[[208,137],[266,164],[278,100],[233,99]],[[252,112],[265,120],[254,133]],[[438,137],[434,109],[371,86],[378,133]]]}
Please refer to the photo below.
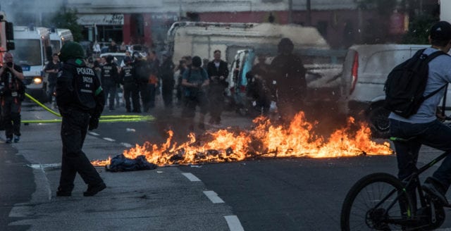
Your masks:
{"label": "grey asphalt road with dashed white lane markings", "polygon": [[[30,118],[49,116],[26,107],[23,120]],[[168,121],[157,123],[163,119],[183,129],[161,115],[149,122],[102,123],[88,135],[85,153],[104,159],[128,145],[158,144],[166,139]],[[264,158],[129,173],[98,168],[107,185],[103,192],[83,197],[86,186],[77,177],[73,196],[57,198],[58,123],[24,125],[19,143],[0,145],[0,230],[339,230],[341,204],[354,182],[396,171],[395,156]],[[437,154],[424,148],[419,162]]]}

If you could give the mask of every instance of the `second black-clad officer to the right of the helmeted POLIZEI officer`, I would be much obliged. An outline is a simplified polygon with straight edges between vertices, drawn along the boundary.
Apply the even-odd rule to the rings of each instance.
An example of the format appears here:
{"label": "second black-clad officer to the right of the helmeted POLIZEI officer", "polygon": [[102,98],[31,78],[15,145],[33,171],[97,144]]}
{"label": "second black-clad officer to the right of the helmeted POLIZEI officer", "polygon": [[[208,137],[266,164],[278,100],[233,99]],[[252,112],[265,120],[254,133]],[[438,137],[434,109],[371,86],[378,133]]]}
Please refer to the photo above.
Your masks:
{"label": "second black-clad officer to the right of the helmeted POLIZEI officer", "polygon": [[[135,77],[135,68],[132,65],[132,58],[125,56],[124,66],[121,68],[119,74],[121,85],[124,88],[124,100],[125,109],[127,112],[131,112],[133,106],[133,112],[140,112],[140,92],[138,92],[137,80]],[[130,96],[132,98],[132,105],[130,105]]]}

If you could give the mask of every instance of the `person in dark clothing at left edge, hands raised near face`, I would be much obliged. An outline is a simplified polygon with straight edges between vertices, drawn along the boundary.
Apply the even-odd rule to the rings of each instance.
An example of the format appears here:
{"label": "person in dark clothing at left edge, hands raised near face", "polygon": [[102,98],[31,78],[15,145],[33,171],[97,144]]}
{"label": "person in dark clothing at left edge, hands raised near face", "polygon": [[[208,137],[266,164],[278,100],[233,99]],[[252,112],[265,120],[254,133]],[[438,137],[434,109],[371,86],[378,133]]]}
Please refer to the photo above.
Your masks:
{"label": "person in dark clothing at left edge, hands raised near face", "polygon": [[[5,64],[6,65],[6,64]],[[23,73],[20,65],[14,65],[14,70]],[[0,90],[1,116],[5,128],[6,139],[13,139],[13,135],[20,136],[20,109],[25,96],[25,86],[9,69],[1,74]]]}

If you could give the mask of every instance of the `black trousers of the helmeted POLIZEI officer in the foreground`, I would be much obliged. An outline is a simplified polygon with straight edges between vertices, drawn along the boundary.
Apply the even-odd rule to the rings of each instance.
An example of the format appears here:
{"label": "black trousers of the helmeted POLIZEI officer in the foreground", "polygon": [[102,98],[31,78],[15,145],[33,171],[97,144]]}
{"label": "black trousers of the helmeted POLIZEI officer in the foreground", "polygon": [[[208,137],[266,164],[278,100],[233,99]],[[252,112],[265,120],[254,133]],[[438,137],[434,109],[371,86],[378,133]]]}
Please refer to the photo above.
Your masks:
{"label": "black trousers of the helmeted POLIZEI officer in the foreground", "polygon": [[62,191],[72,191],[77,173],[87,185],[97,185],[103,182],[97,170],[82,151],[88,125],[89,113],[69,109],[68,113],[63,115],[61,124],[63,156],[59,180],[59,189]]}

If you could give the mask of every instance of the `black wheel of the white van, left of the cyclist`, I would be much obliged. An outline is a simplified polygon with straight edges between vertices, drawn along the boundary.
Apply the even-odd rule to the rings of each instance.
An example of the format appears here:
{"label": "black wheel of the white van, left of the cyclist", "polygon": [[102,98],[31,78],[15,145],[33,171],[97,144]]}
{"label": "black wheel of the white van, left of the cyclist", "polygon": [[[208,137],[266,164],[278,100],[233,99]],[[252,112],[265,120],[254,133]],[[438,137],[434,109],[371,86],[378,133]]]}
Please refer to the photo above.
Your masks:
{"label": "black wheel of the white van, left of the cyclist", "polygon": [[369,125],[371,126],[371,132],[373,137],[388,138],[390,137],[390,123],[388,120],[390,111],[378,106],[373,108],[368,114]]}

